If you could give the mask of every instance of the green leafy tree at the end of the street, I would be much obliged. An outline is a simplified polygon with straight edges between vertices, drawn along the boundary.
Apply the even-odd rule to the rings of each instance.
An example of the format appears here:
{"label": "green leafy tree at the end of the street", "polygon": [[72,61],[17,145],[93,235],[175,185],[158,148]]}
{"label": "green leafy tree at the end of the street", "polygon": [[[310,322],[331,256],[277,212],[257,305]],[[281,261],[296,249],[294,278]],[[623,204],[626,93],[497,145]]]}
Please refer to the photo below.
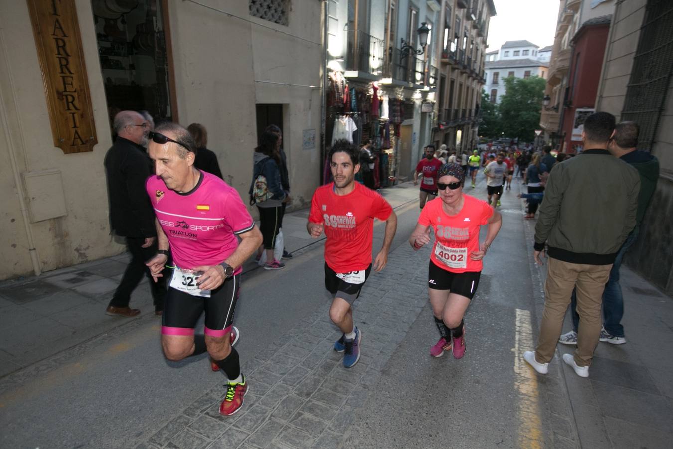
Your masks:
{"label": "green leafy tree at the end of the street", "polygon": [[505,137],[532,142],[540,127],[540,110],[546,81],[541,77],[505,78],[505,95],[500,99],[500,127]]}

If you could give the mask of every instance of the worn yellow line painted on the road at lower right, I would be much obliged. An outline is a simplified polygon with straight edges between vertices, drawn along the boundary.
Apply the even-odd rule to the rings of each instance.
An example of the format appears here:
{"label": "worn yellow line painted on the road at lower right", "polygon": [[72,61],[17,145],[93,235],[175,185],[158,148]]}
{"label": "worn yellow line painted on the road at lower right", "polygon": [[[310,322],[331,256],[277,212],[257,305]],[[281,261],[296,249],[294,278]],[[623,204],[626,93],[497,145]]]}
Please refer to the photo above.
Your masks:
{"label": "worn yellow line painted on the road at lower right", "polygon": [[542,423],[540,422],[540,404],[538,378],[535,370],[524,361],[524,351],[535,347],[533,331],[528,310],[516,309],[516,345],[514,347],[514,384],[519,390],[519,447],[541,449]]}

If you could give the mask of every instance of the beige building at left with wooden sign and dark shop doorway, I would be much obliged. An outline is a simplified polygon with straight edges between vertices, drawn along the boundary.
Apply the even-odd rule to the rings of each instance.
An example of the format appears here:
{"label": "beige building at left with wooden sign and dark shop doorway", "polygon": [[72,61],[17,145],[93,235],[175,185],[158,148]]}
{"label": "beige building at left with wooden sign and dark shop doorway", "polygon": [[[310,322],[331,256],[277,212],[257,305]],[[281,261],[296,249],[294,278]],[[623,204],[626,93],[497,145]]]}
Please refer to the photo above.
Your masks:
{"label": "beige building at left with wooden sign and dark shop doorway", "polygon": [[[103,168],[118,110],[205,125],[225,181],[244,199],[258,131],[275,123],[294,206],[310,201],[322,164],[322,3],[208,3],[0,2],[0,182],[8,193],[0,199],[0,279],[124,250],[110,235]],[[73,135],[75,127],[87,133]]]}

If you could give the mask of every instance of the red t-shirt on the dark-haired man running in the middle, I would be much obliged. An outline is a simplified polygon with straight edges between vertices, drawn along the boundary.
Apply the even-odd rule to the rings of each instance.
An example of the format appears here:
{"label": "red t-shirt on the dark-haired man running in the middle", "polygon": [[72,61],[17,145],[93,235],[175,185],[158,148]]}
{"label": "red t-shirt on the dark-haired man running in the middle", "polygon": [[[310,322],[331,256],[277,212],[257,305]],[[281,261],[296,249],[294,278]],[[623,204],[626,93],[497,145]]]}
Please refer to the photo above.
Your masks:
{"label": "red t-shirt on the dark-haired man running in the middle", "polygon": [[308,220],[324,223],[327,266],[336,273],[367,269],[371,264],[374,218],[384,221],[390,213],[388,201],[359,182],[348,195],[336,195],[334,182],[316,188]]}

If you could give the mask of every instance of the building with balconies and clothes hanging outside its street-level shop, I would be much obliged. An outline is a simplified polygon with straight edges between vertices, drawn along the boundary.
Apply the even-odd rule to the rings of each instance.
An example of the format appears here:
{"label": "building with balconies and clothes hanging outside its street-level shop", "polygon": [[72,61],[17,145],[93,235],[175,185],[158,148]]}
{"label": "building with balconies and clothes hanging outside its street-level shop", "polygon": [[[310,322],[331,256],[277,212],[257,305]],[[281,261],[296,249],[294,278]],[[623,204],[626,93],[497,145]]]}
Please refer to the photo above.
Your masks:
{"label": "building with balconies and clothes hanging outside its street-level shop", "polygon": [[[412,176],[431,143],[440,0],[328,0],[324,152],[339,123],[373,139],[377,185]],[[419,29],[427,28],[427,40]],[[343,98],[342,93],[349,96]],[[380,152],[378,151],[380,150]],[[324,176],[328,176],[324,170]]]}

